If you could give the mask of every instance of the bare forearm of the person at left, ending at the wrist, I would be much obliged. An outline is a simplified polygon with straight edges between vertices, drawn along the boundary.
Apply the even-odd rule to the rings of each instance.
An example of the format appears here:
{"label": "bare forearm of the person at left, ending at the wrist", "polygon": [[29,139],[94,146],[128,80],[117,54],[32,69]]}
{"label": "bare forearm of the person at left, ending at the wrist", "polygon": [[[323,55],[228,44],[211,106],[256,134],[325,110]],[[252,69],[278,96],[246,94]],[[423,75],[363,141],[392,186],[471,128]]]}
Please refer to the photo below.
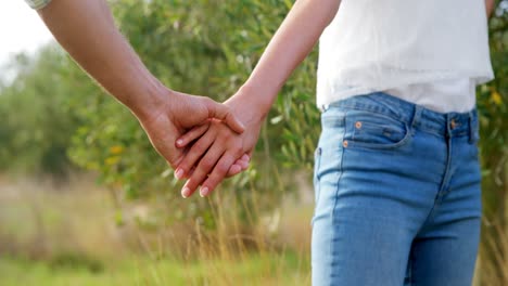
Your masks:
{"label": "bare forearm of the person at left, ending at the wrist", "polygon": [[39,15],[61,46],[138,117],[167,92],[116,28],[104,0],[53,0]]}

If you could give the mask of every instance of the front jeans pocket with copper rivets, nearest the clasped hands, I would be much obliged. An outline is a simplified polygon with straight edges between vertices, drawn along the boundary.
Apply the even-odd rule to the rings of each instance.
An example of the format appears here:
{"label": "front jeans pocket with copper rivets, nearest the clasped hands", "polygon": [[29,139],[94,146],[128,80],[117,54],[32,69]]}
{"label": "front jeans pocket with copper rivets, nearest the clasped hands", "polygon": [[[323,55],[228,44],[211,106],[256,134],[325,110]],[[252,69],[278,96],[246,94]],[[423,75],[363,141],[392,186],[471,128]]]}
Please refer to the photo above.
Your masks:
{"label": "front jeans pocket with copper rivets, nearest the clasped hands", "polygon": [[407,122],[368,110],[348,110],[345,128],[344,146],[348,148],[396,148],[411,136]]}

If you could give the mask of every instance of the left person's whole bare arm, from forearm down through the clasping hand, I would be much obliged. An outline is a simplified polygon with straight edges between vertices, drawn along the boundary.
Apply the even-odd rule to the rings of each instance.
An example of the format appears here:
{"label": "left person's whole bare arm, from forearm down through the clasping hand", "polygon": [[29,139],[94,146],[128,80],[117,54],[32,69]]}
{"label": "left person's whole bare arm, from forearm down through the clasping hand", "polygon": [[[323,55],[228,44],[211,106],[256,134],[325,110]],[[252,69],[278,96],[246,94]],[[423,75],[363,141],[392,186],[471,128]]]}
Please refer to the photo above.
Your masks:
{"label": "left person's whole bare arm, from forearm down through the clasping hand", "polygon": [[234,131],[243,131],[227,106],[175,92],[153,77],[115,27],[104,0],[52,0],[38,12],[76,62],[132,110],[154,147],[172,166],[178,165],[183,155],[175,146],[176,139],[208,118],[221,119]]}

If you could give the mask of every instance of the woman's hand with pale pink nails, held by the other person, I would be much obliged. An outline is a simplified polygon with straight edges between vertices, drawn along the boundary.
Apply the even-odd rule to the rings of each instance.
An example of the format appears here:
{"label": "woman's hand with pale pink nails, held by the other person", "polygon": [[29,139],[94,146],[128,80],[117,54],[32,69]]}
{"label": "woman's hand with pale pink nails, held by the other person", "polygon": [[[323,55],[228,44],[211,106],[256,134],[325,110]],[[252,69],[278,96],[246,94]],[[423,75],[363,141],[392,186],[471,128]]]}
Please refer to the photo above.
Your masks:
{"label": "woman's hand with pale pink nails, held by the other person", "polygon": [[204,134],[200,127],[178,139],[177,146],[186,147],[199,138],[177,168],[181,178],[189,178],[181,191],[183,197],[192,195],[199,185],[200,195],[207,196],[226,177],[249,167],[249,156],[254,151],[266,113],[249,104],[247,99],[237,94],[225,103],[245,125],[242,134],[212,120]]}

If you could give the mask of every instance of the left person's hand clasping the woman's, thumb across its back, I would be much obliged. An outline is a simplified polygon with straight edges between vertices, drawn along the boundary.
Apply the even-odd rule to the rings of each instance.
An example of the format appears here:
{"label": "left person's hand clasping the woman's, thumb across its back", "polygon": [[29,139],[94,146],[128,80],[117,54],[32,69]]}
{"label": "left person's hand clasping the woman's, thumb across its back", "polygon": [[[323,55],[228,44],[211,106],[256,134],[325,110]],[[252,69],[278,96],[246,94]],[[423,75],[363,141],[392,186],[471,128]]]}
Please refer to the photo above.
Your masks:
{"label": "left person's hand clasping the woman's, thumb across its back", "polygon": [[[226,105],[214,102],[208,98],[183,94],[164,89],[161,104],[152,113],[139,116],[139,121],[155,150],[176,168],[183,158],[186,150],[176,147],[176,140],[189,129],[207,123],[209,119],[224,121],[232,133],[244,130],[242,123],[233,116]],[[234,168],[230,176],[240,172],[242,168]]]}

